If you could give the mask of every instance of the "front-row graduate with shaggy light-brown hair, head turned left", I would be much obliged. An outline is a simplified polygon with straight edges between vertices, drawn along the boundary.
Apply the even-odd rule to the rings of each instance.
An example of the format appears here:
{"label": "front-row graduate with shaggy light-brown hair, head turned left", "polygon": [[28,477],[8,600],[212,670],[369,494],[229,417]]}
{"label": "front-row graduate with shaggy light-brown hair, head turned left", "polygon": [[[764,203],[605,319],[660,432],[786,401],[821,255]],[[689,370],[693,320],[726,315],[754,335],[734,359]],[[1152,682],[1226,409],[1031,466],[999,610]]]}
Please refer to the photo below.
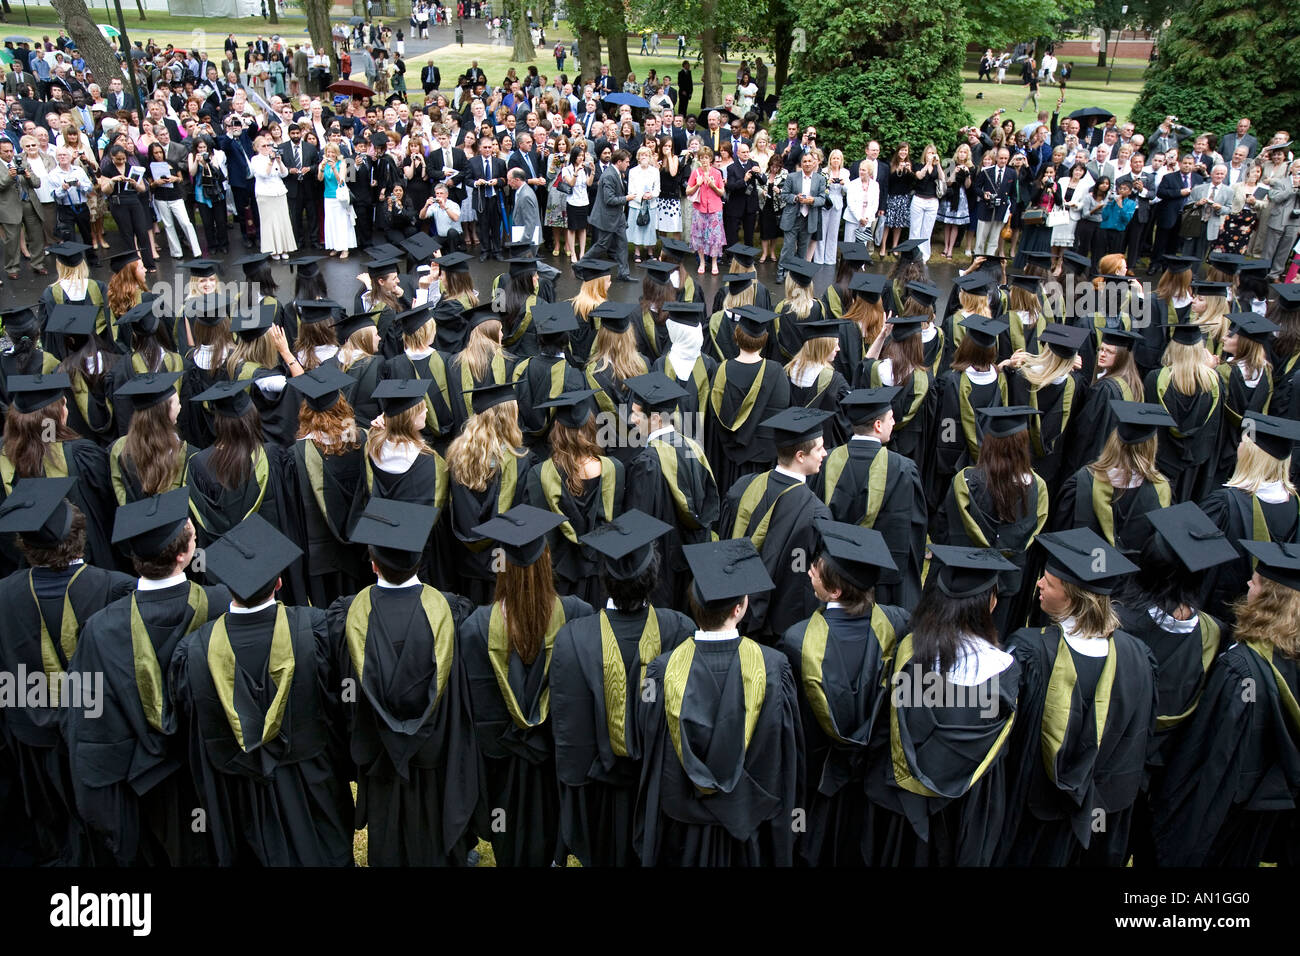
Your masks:
{"label": "front-row graduate with shaggy light-brown hair, head turned left", "polygon": [[1039,604],[1053,623],[1006,641],[1022,679],[998,860],[1123,866],[1156,730],[1156,659],[1119,630],[1110,593],[1138,567],[1087,528],[1039,541]]}

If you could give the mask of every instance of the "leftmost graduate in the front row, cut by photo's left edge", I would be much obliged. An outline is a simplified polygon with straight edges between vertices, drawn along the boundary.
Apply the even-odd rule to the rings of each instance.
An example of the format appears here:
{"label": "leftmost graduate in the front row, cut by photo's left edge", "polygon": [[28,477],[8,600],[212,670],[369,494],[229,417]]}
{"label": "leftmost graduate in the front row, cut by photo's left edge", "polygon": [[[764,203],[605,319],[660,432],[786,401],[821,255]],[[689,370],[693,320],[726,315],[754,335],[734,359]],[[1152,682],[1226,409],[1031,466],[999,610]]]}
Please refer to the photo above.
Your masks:
{"label": "leftmost graduate in the front row, cut by photo's left edge", "polygon": [[43,865],[90,866],[110,856],[77,813],[60,723],[68,708],[99,715],[103,688],[94,672],[74,675],[69,662],[91,615],[130,593],[135,581],[83,563],[86,520],[66,498],[73,484],[70,477],[23,479],[0,505],[0,532],[17,532],[29,566],[0,580],[0,671],[9,695],[23,695],[0,708],[10,786],[22,806],[5,821],[3,842],[32,845]]}

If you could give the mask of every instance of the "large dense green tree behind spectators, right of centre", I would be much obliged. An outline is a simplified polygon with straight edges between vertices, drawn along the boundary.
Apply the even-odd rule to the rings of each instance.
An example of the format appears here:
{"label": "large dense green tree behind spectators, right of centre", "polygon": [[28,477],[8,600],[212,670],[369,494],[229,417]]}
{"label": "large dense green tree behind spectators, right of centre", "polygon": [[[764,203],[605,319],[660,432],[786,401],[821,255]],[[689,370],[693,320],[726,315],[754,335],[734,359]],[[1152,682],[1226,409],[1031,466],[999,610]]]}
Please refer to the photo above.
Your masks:
{"label": "large dense green tree behind spectators, right of centre", "polygon": [[861,157],[870,139],[933,142],[946,153],[970,121],[962,105],[966,21],[961,0],[845,4],[805,0],[805,52],[781,92],[781,118],[816,124],[822,142]]}

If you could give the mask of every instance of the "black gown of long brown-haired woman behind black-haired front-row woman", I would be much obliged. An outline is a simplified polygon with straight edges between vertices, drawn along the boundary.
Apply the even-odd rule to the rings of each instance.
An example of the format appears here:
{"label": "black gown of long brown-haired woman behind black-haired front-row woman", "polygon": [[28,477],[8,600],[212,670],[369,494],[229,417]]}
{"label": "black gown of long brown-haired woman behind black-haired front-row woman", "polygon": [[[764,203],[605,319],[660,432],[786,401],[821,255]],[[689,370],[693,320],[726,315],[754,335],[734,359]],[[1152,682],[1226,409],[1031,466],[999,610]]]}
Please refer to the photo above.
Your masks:
{"label": "black gown of long brown-haired woman behind black-haired front-row woman", "polygon": [[988,476],[979,468],[962,468],[953,476],[942,510],[935,516],[935,544],[992,548],[1015,564],[1014,571],[997,576],[993,623],[1000,635],[1023,627],[1028,617],[1037,579],[1036,567],[1030,566],[1030,546],[1046,524],[1048,511],[1048,486],[1041,476],[1032,476],[1024,511],[1008,522],[997,515]]}

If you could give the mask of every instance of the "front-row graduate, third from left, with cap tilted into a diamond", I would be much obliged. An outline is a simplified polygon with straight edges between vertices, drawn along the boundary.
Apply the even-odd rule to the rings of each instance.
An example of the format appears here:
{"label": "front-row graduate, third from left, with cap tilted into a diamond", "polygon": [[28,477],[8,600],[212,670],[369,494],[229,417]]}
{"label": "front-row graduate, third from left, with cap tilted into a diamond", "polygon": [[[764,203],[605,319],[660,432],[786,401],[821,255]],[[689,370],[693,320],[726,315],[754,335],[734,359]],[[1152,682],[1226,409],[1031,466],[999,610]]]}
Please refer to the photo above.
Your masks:
{"label": "front-row graduate, third from left, with cap tilted into a diamond", "polygon": [[352,765],[325,611],[276,600],[294,542],[252,515],[207,549],[229,610],[181,640],[169,684],[221,866],[351,866]]}

